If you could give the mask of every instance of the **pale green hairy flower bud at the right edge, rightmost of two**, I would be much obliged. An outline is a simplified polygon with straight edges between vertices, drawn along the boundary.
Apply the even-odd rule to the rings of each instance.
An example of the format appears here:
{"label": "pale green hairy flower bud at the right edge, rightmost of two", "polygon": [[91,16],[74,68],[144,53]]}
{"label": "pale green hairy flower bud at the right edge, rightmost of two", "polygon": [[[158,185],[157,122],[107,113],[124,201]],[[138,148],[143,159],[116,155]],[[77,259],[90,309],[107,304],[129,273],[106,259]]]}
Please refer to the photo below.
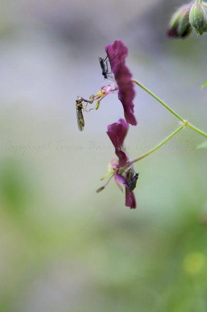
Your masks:
{"label": "pale green hairy flower bud at the right edge, rightmost of two", "polygon": [[189,19],[192,28],[197,34],[202,35],[207,31],[207,11],[202,4],[195,3],[192,5]]}

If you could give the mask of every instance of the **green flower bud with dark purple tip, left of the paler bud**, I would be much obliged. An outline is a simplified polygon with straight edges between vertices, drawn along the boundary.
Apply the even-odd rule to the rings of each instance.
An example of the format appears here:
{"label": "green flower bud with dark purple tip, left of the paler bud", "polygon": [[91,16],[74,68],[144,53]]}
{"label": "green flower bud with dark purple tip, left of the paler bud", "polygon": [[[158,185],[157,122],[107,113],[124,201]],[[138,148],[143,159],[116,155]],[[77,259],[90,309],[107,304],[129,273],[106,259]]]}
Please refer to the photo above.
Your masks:
{"label": "green flower bud with dark purple tip, left of the paler bud", "polygon": [[189,22],[189,13],[192,4],[182,5],[172,16],[168,29],[169,37],[185,37],[192,28]]}

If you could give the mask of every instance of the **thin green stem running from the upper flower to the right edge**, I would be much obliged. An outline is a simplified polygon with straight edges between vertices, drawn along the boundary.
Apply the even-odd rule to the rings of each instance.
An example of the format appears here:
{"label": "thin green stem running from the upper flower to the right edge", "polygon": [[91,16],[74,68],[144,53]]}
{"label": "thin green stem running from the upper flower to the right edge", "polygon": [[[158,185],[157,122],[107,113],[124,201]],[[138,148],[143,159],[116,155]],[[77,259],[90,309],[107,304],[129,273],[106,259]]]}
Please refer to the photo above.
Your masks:
{"label": "thin green stem running from the upper flower to the right edge", "polygon": [[198,132],[200,135],[207,137],[207,134],[205,132],[203,132],[202,130],[198,129],[197,127],[193,126],[190,122],[188,122],[187,120],[185,120],[184,118],[182,118],[181,116],[179,116],[177,113],[175,113],[175,111],[173,111],[172,108],[170,108],[170,106],[168,106],[165,102],[163,102],[160,98],[158,98],[157,96],[155,96],[155,94],[153,92],[151,92],[150,90],[148,90],[145,86],[143,86],[140,82],[138,82],[138,80],[136,79],[132,79],[132,81],[134,83],[136,83],[140,88],[142,88],[144,91],[146,91],[147,93],[149,93],[153,98],[155,98],[160,104],[162,104],[165,108],[167,108],[175,117],[177,117],[179,120],[181,120],[184,125],[186,127],[191,128],[192,130]]}

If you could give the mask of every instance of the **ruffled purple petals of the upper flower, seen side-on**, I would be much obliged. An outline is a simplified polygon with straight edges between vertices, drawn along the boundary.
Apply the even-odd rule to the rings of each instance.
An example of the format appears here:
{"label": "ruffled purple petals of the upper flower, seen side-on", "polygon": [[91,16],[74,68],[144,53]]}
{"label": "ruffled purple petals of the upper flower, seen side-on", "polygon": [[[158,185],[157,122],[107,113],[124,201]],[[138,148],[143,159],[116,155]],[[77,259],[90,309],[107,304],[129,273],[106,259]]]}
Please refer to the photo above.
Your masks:
{"label": "ruffled purple petals of the upper flower, seen side-on", "polygon": [[118,86],[118,97],[121,100],[124,110],[124,116],[128,123],[136,126],[137,120],[134,116],[135,91],[132,82],[132,74],[125,65],[125,58],[128,55],[128,49],[124,46],[121,40],[116,40],[114,43],[105,47],[111,71]]}

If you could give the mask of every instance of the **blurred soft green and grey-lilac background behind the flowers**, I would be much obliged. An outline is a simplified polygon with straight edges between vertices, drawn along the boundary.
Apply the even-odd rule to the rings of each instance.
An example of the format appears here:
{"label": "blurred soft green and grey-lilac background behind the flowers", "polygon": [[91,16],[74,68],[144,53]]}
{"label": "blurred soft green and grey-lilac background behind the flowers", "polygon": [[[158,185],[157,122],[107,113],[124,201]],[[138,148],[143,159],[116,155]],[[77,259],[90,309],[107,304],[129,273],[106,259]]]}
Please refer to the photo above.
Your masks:
{"label": "blurred soft green and grey-lilac background behind the flowers", "polygon": [[[166,38],[182,1],[0,0],[0,312],[206,312],[207,150],[185,129],[136,164],[137,209],[100,178],[114,158],[98,57],[122,39],[137,78],[207,131],[207,37]],[[178,121],[136,88],[131,157]],[[112,107],[113,105],[113,107]],[[106,147],[110,147],[106,149]]]}

